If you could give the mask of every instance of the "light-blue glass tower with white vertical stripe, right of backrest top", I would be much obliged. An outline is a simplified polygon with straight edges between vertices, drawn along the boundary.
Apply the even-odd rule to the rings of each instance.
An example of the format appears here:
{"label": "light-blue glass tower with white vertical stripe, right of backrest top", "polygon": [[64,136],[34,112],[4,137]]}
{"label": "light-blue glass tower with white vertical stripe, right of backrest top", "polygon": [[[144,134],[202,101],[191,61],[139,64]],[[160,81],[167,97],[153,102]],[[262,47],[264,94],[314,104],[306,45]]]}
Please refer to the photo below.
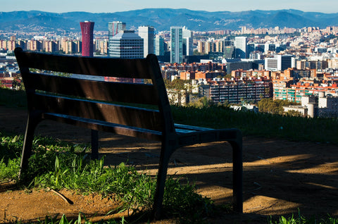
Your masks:
{"label": "light-blue glass tower with white vertical stripe, right of backrest top", "polygon": [[170,27],[170,63],[182,63],[183,40],[182,27]]}

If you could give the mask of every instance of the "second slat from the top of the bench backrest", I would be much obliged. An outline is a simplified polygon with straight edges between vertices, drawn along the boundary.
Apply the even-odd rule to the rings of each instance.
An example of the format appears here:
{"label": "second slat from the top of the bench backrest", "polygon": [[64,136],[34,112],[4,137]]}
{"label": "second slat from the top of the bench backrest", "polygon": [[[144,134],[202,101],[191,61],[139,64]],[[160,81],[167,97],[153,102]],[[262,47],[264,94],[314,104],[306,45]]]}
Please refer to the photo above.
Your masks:
{"label": "second slat from the top of the bench backrest", "polygon": [[126,82],[79,80],[57,75],[30,73],[25,87],[55,94],[65,94],[99,101],[118,101],[131,104],[158,104],[154,85]]}

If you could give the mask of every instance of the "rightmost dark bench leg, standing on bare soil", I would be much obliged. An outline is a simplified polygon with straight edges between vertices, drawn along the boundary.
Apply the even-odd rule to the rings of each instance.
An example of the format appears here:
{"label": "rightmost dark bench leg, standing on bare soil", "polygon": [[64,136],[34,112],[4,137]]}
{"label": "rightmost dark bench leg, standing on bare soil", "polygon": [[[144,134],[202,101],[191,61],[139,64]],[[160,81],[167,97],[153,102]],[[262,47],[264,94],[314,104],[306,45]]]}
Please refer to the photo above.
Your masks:
{"label": "rightmost dark bench leg, standing on bare soil", "polygon": [[243,213],[243,159],[242,159],[242,138],[230,142],[232,146],[232,185],[234,197],[234,211]]}

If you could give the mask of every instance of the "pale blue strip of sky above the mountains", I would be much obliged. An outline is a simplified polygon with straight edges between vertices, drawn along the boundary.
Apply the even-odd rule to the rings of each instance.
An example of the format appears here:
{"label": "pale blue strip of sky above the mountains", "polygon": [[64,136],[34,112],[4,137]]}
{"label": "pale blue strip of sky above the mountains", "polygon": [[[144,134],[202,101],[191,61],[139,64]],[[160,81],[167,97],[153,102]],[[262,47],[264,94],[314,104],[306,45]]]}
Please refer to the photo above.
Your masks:
{"label": "pale blue strip of sky above the mountains", "polygon": [[0,0],[0,11],[86,11],[114,13],[142,8],[188,8],[204,11],[248,11],[298,9],[306,12],[338,13],[337,0]]}

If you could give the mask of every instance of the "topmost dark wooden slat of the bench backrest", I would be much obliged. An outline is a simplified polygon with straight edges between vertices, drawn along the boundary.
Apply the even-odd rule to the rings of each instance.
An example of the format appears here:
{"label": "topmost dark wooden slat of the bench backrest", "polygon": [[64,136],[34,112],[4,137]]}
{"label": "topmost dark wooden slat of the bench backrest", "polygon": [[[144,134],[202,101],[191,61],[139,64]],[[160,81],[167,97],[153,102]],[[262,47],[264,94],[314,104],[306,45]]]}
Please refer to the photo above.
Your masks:
{"label": "topmost dark wooden slat of the bench backrest", "polygon": [[20,68],[37,68],[61,73],[151,79],[145,58],[121,59],[65,56],[15,50]]}

